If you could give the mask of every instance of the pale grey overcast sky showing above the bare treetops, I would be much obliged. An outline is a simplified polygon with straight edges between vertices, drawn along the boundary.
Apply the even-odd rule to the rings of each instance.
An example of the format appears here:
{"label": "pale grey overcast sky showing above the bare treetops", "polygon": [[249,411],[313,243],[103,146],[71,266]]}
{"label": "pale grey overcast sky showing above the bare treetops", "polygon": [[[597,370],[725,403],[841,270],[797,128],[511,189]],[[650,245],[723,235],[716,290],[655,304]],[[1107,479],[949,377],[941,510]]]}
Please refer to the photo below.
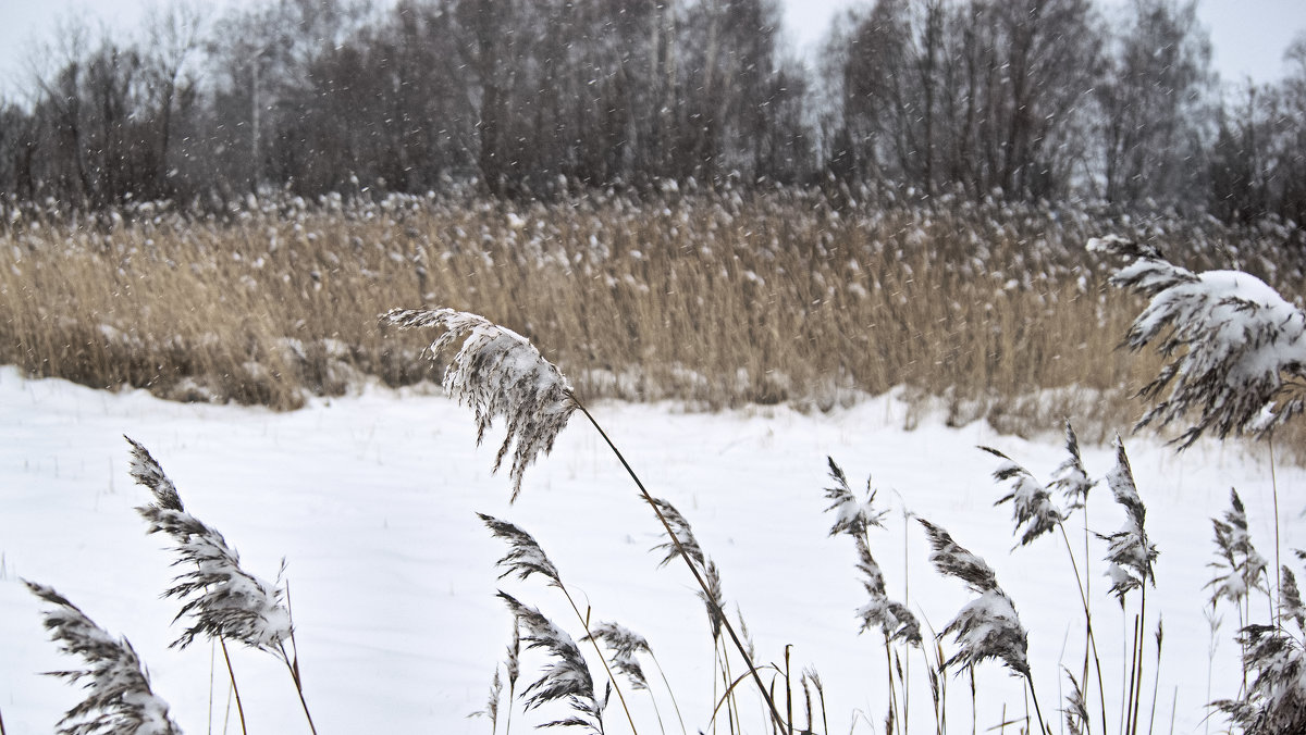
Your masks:
{"label": "pale grey overcast sky showing above the bare treetops", "polygon": [[[259,0],[212,0],[213,5],[249,5]],[[37,40],[48,40],[56,18],[73,16],[91,27],[135,31],[145,8],[167,0],[0,0],[0,94],[27,86],[25,60]],[[842,8],[870,0],[782,0],[785,27],[799,48],[811,48]],[[1126,0],[1106,0],[1123,5]],[[1282,76],[1282,54],[1306,33],[1306,0],[1199,0],[1198,13],[1211,31],[1215,65],[1225,81],[1258,82]]]}

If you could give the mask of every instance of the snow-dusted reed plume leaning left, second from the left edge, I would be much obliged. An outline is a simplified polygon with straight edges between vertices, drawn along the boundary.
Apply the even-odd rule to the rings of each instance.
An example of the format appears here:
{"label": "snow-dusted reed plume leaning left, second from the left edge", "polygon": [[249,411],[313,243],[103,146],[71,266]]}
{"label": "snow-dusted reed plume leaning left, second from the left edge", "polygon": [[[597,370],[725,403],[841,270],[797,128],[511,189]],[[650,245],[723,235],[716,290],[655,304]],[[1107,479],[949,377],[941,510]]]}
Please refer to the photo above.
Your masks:
{"label": "snow-dusted reed plume leaning left, second from the left edge", "polygon": [[172,538],[174,565],[183,569],[163,594],[183,601],[178,619],[189,616],[193,624],[172,645],[185,648],[206,636],[240,641],[285,658],[283,642],[291,636],[291,624],[282,590],[246,572],[222,534],[187,513],[176,487],[149,450],[131,437],[127,441],[132,446],[132,477],[150,488],[155,500],[136,510],[149,521],[149,533]]}

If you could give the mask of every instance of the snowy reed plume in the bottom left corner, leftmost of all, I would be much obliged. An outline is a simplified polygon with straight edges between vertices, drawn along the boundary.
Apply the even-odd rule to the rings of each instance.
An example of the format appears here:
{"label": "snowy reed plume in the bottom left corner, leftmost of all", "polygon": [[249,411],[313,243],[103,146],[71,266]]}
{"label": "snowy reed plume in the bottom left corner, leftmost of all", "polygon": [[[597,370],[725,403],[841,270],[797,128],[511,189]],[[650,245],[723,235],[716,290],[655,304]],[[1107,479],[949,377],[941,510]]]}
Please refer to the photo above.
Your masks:
{"label": "snowy reed plume in the bottom left corner, leftmost of all", "polygon": [[127,638],[114,638],[54,589],[24,581],[51,607],[42,616],[59,650],[80,657],[85,668],[52,671],[81,683],[86,698],[59,721],[61,735],[180,735],[167,702],[150,691],[149,676]]}

